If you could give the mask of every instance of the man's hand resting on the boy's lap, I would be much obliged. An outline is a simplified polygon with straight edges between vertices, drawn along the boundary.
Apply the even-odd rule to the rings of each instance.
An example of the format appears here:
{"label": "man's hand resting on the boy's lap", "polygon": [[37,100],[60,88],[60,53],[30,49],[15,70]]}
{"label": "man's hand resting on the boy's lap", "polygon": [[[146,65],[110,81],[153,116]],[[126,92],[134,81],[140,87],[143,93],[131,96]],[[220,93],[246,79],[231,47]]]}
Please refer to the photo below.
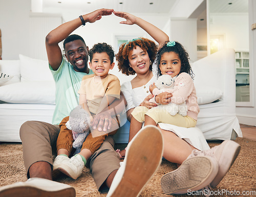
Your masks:
{"label": "man's hand resting on the boy's lap", "polygon": [[97,129],[98,127],[98,131],[106,132],[111,129],[111,126],[112,126],[111,120],[112,120],[112,117],[109,111],[100,112],[96,114],[96,116],[94,117],[92,122],[92,128]]}

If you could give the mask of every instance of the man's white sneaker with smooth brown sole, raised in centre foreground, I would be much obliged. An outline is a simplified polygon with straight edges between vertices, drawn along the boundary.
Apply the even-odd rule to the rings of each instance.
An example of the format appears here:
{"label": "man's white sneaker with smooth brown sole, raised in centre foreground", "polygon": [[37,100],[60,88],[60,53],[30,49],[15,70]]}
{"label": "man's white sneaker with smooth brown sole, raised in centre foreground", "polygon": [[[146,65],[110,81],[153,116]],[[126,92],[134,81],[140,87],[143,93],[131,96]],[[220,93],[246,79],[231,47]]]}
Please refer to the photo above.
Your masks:
{"label": "man's white sneaker with smooth brown sole, raised in centre foreground", "polygon": [[143,127],[127,145],[107,196],[139,196],[156,173],[163,156],[163,137],[156,126]]}

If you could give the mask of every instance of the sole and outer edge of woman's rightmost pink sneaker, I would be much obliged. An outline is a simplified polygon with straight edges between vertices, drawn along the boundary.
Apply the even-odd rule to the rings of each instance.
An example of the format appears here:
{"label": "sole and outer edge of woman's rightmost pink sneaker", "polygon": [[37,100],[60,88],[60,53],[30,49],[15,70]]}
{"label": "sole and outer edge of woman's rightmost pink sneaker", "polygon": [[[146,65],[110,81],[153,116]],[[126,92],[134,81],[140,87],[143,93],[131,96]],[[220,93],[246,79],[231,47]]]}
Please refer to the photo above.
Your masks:
{"label": "sole and outer edge of woman's rightmost pink sneaker", "polygon": [[[234,163],[234,160],[237,159],[239,152],[241,150],[241,146],[231,140],[224,141],[222,143],[226,143],[223,147],[223,151],[227,151],[227,154],[221,154],[221,157],[219,159],[219,171],[215,179],[210,183],[210,186],[212,188],[215,188],[221,180],[224,178],[224,176],[227,174],[228,170]],[[220,165],[221,164],[221,165]]]}

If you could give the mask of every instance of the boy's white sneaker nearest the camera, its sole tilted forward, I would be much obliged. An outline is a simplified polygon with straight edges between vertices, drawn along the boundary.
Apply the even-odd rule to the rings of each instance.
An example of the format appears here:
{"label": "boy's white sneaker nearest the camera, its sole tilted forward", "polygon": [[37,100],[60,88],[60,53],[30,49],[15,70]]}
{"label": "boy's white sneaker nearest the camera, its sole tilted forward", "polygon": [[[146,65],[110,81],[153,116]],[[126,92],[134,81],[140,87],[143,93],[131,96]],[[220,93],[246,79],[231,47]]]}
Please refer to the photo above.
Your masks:
{"label": "boy's white sneaker nearest the camera, its sole tilted forward", "polygon": [[58,170],[72,179],[77,179],[82,174],[83,167],[84,162],[82,161],[82,157],[76,155],[71,157],[70,160],[60,163]]}

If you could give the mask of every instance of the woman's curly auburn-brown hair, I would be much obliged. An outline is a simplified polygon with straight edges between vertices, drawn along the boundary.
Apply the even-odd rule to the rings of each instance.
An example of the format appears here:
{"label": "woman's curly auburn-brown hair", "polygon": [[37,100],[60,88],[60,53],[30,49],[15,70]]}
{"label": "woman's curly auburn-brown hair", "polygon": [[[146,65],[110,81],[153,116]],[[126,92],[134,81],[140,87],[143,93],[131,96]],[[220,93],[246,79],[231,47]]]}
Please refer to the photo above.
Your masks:
{"label": "woman's curly auburn-brown hair", "polygon": [[147,38],[138,38],[133,39],[129,42],[123,43],[119,47],[118,54],[116,55],[116,60],[118,62],[118,68],[119,71],[121,70],[124,75],[135,75],[136,72],[133,70],[133,72],[129,72],[128,69],[130,68],[129,65],[129,53],[136,48],[136,46],[139,46],[142,48],[143,51],[146,51],[148,54],[148,57],[150,57],[151,65],[150,70],[152,70],[152,64],[155,61],[156,53],[157,53],[157,45],[154,41],[147,39]]}

